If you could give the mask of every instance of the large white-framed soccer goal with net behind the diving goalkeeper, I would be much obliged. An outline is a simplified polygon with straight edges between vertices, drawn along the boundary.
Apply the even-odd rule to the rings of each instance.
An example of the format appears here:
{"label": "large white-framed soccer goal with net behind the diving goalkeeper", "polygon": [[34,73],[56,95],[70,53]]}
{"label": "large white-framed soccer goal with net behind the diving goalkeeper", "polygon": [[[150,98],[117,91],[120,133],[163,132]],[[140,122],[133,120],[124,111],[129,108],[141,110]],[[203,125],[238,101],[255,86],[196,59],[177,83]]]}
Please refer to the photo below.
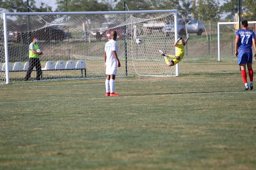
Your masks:
{"label": "large white-framed soccer goal with net behind the diving goalkeeper", "polygon": [[[41,80],[104,78],[104,47],[111,30],[117,31],[121,62],[117,77],[178,76],[178,65],[168,67],[159,53],[175,55],[176,20],[177,10],[3,13],[0,83],[23,81],[33,37],[43,52]],[[173,28],[168,36],[167,26]],[[35,77],[32,71],[31,80]]]}

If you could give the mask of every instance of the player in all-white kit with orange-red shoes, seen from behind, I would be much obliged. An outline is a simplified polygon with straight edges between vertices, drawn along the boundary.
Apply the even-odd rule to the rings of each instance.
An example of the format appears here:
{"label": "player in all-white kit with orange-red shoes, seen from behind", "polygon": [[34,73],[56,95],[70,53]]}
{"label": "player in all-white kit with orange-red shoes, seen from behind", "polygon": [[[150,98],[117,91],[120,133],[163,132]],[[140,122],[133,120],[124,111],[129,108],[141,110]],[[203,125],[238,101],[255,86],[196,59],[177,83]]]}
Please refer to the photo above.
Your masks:
{"label": "player in all-white kit with orange-red shoes, seen from behind", "polygon": [[111,31],[111,40],[105,44],[104,59],[107,75],[107,79],[105,81],[106,96],[120,96],[114,93],[117,67],[121,66],[117,57],[118,47],[116,43],[116,37],[116,31]]}

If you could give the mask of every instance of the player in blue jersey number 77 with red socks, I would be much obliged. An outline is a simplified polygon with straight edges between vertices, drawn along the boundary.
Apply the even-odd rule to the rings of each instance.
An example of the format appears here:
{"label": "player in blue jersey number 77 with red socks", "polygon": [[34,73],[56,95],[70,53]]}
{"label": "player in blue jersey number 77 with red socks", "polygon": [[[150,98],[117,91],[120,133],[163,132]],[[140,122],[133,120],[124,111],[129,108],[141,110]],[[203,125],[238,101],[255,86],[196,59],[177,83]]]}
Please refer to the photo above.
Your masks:
{"label": "player in blue jersey number 77 with red socks", "polygon": [[[249,86],[247,84],[247,74],[246,74],[246,65],[249,72],[250,78],[250,90],[253,89],[253,51],[252,45],[256,51],[256,41],[255,34],[253,31],[248,30],[248,22],[247,20],[242,20],[241,22],[242,29],[236,32],[236,57],[238,57],[238,65],[241,66],[241,75],[244,81],[245,88],[244,90],[248,90]],[[254,55],[256,59],[256,54]]]}

